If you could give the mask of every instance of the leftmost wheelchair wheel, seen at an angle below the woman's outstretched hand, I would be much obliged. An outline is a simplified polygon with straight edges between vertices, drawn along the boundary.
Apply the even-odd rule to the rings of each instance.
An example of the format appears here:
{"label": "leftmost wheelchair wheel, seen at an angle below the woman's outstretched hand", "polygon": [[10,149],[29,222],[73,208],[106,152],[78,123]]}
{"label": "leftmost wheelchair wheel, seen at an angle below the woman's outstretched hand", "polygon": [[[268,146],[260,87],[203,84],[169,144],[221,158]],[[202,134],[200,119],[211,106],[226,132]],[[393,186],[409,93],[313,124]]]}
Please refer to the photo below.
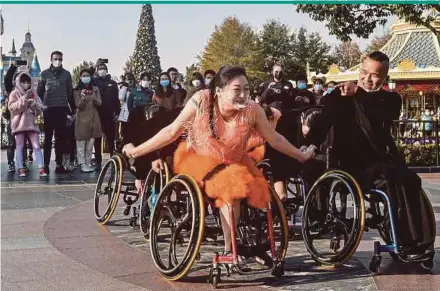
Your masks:
{"label": "leftmost wheelchair wheel, seen at an angle below the woman's outstretched hand", "polygon": [[96,183],[94,212],[98,223],[104,225],[115,212],[122,186],[123,164],[115,155],[102,167]]}

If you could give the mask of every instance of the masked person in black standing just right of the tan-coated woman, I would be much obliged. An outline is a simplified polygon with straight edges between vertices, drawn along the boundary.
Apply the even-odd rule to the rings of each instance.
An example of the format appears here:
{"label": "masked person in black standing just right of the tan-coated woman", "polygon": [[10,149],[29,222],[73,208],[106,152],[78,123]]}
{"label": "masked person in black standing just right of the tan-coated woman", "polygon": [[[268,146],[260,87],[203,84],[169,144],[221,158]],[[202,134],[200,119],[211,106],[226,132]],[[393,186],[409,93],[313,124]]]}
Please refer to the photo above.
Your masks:
{"label": "masked person in black standing just right of the tan-coated woman", "polygon": [[[102,131],[109,147],[110,156],[115,151],[115,135],[116,122],[121,113],[121,102],[119,102],[119,87],[118,84],[112,80],[108,73],[107,65],[99,59],[96,62],[98,76],[94,78],[93,84],[99,88],[101,96],[101,106],[98,107],[99,118],[101,121]],[[95,138],[95,159],[96,170],[101,169],[102,163],[102,137]]]}

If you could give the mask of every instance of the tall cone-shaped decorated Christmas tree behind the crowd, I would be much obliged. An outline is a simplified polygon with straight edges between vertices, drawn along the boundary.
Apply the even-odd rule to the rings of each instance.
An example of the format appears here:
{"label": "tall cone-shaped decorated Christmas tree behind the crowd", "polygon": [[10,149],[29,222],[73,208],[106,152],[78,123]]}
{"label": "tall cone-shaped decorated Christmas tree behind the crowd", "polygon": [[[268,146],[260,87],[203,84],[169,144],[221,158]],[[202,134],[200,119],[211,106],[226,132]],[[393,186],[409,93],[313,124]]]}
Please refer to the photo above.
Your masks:
{"label": "tall cone-shaped decorated Christmas tree behind the crowd", "polygon": [[161,72],[160,59],[157,55],[153,9],[149,4],[142,5],[134,53],[127,61],[124,70],[132,72],[136,79],[142,72],[148,72],[153,81],[158,79]]}

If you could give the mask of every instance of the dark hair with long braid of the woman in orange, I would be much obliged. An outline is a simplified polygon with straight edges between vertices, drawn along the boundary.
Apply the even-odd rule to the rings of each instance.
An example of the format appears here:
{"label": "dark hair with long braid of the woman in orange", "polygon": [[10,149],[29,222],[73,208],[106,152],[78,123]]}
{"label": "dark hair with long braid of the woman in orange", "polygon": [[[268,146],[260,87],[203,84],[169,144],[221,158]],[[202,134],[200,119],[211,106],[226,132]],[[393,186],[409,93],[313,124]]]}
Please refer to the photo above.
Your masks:
{"label": "dark hair with long braid of the woman in orange", "polygon": [[219,136],[215,133],[215,124],[214,124],[214,105],[215,105],[215,88],[224,88],[229,84],[233,79],[245,76],[246,70],[239,66],[223,66],[220,68],[218,73],[215,75],[214,82],[211,82],[210,86],[210,94],[209,94],[209,127],[211,128],[212,135],[214,138],[218,139]]}

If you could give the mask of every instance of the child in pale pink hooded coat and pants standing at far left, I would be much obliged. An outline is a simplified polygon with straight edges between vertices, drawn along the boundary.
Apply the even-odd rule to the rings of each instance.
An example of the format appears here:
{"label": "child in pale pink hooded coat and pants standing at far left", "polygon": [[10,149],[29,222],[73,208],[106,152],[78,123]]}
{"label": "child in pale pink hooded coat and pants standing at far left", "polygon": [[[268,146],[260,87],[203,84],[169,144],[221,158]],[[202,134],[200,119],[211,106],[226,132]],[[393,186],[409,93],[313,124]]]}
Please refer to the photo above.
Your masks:
{"label": "child in pale pink hooded coat and pants standing at far left", "polygon": [[[40,148],[37,116],[44,108],[41,99],[34,93],[32,79],[28,73],[19,73],[15,79],[15,89],[11,92],[8,100],[8,108],[11,113],[11,132],[15,137],[17,164],[23,165],[23,146],[27,138],[30,139],[35,151],[40,176],[47,176],[44,170],[43,154]],[[18,170],[20,177],[26,177],[26,170]]]}

